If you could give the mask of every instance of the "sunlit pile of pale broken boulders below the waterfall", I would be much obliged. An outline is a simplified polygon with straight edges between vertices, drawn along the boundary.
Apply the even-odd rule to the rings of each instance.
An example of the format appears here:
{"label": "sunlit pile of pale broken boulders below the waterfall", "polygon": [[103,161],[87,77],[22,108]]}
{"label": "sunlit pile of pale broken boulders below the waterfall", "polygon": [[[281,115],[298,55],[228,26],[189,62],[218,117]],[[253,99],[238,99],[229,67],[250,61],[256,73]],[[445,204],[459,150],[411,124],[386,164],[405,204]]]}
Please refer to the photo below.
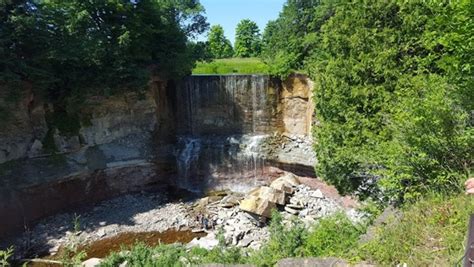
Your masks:
{"label": "sunlit pile of pale broken boulders below the waterfall", "polygon": [[361,216],[354,209],[345,209],[337,200],[324,196],[321,190],[301,184],[298,177],[290,173],[274,180],[269,186],[251,190],[245,196],[227,192],[226,196],[203,198],[196,206],[200,211],[205,209],[203,212],[216,223],[216,229],[189,245],[208,249],[218,244],[218,229],[224,231],[227,245],[260,248],[269,238],[265,222],[271,217],[273,209],[283,213],[284,224],[289,224],[293,217],[298,216],[308,228],[319,218],[336,212],[346,212],[353,220]]}

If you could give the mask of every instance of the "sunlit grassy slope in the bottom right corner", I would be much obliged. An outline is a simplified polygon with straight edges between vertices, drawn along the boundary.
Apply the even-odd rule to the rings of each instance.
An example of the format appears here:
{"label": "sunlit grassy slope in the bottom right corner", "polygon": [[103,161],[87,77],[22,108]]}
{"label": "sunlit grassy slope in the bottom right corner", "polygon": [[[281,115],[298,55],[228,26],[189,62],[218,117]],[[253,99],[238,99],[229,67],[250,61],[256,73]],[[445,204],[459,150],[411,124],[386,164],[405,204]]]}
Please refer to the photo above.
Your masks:
{"label": "sunlit grassy slope in the bottom right corner", "polygon": [[394,266],[453,266],[464,254],[472,196],[430,196],[402,209],[396,223],[376,226],[376,236],[354,253],[361,260]]}

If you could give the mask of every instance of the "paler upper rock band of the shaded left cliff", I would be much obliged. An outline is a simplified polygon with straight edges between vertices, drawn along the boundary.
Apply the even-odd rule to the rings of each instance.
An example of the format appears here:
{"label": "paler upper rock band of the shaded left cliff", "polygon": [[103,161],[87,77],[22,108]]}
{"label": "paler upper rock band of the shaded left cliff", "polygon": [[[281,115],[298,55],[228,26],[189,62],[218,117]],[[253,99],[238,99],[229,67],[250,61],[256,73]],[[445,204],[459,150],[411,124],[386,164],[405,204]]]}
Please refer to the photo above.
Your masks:
{"label": "paler upper rock band of the shaded left cliff", "polygon": [[[82,122],[74,136],[53,132],[54,144],[59,153],[70,153],[81,148],[111,143],[131,134],[153,132],[156,127],[154,92],[145,96],[136,94],[109,98],[90,98],[81,111],[88,121]],[[44,139],[48,132],[45,105],[31,91],[25,91],[17,104],[7,103],[0,96],[0,106],[8,107],[8,119],[0,128],[0,163],[10,160],[47,156]]]}

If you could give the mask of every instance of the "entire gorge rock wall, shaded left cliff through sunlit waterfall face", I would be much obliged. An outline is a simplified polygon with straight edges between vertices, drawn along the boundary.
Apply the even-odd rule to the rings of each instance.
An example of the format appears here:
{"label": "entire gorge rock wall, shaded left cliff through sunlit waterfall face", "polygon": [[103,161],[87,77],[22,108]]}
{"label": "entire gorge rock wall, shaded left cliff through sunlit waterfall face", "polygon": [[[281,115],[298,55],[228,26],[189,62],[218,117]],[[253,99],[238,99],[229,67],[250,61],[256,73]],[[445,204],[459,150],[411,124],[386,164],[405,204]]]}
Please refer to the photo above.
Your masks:
{"label": "entire gorge rock wall, shaded left cliff through sunlit waterfall face", "polygon": [[273,166],[311,175],[311,88],[301,75],[153,79],[145,95],[88,99],[87,121],[72,135],[48,124],[53,107],[31,91],[15,105],[0,95],[9,107],[0,128],[0,236],[127,192],[243,191],[270,179]]}

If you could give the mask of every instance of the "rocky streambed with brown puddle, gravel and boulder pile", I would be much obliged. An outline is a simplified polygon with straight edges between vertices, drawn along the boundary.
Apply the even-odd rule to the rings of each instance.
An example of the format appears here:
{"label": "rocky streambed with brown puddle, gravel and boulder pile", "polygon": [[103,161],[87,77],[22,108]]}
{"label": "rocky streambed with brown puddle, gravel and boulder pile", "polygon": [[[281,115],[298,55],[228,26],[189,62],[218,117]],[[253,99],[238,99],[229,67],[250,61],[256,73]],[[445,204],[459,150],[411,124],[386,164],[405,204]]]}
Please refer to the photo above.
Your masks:
{"label": "rocky streambed with brown puddle, gravel and boulder pile", "polygon": [[[103,257],[118,250],[120,243],[130,245],[134,241],[150,245],[189,242],[188,246],[212,248],[218,244],[222,229],[228,245],[258,249],[269,238],[266,218],[274,208],[282,212],[284,223],[299,217],[310,227],[338,211],[358,220],[362,215],[356,207],[354,200],[339,196],[317,179],[282,172],[271,184],[246,194],[219,191],[200,198],[189,192],[169,191],[117,197],[44,219],[1,245],[13,244],[17,258],[33,258],[54,257],[74,242],[89,252],[88,257]],[[208,229],[203,229],[198,216],[206,218]]]}

